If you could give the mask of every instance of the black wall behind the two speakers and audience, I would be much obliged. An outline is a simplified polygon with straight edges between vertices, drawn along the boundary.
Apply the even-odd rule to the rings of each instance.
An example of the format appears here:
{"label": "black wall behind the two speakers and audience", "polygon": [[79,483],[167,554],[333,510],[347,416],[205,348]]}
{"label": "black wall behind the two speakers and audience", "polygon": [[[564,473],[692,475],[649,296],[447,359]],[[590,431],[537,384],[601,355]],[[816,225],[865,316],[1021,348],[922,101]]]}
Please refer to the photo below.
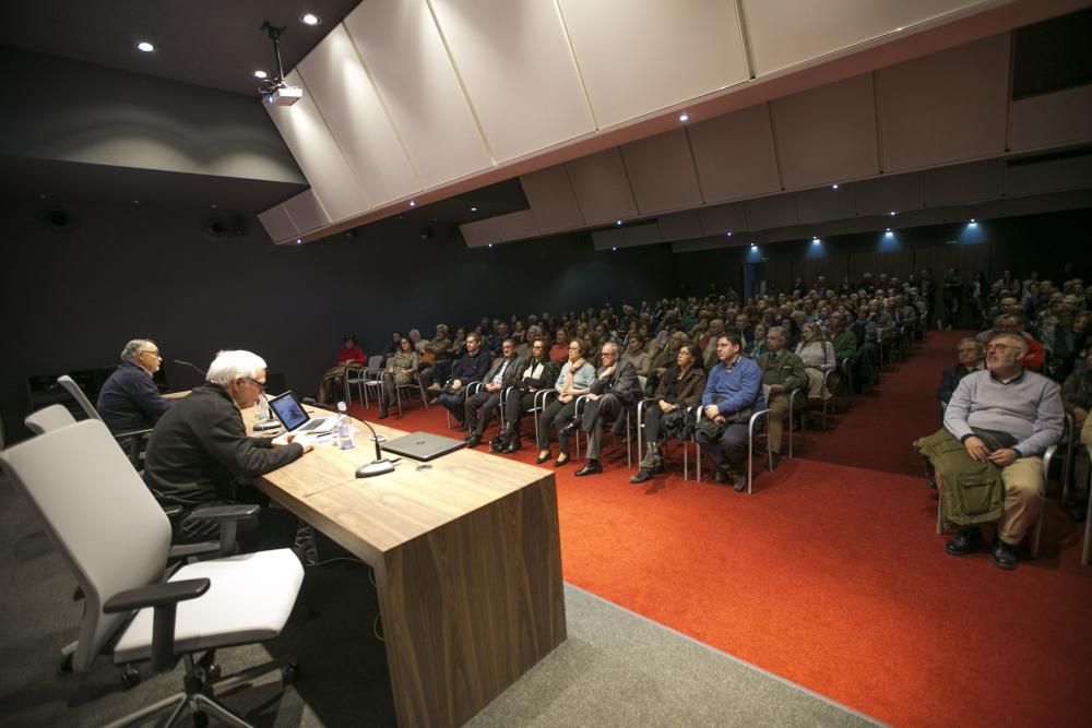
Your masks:
{"label": "black wall behind the two speakers and audience", "polygon": [[218,349],[247,348],[306,394],[345,332],[370,354],[395,330],[638,301],[675,283],[667,246],[596,252],[586,236],[470,250],[404,231],[275,247],[252,216],[245,235],[213,239],[201,211],[66,212],[57,228],[45,210],[0,202],[9,438],[23,432],[27,377],[116,363],[133,337],[154,338],[181,385],[193,375],[171,359],[204,368]]}

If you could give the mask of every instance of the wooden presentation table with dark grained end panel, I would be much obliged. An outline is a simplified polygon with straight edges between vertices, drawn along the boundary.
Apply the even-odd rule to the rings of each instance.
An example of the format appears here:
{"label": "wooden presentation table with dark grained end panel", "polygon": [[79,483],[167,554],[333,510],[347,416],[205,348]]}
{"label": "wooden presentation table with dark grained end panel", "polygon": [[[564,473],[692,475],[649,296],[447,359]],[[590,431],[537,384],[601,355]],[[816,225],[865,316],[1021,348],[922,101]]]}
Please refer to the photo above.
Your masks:
{"label": "wooden presentation table with dark grained end panel", "polygon": [[460,450],[356,478],[356,426],[256,485],[375,569],[399,724],[462,725],[566,639],[554,474]]}

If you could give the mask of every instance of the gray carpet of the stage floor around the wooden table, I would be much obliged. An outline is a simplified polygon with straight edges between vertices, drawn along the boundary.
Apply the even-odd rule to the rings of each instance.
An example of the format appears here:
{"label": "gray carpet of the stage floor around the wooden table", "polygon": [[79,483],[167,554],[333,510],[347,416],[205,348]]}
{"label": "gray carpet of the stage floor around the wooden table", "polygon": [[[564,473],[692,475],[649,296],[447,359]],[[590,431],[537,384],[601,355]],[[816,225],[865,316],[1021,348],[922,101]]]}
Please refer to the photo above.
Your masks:
{"label": "gray carpet of the stage floor around the wooden table", "polygon": [[[0,477],[0,723],[96,726],[179,690],[181,668],[124,690],[99,660],[59,670],[82,601],[29,508]],[[566,585],[569,639],[472,721],[489,726],[855,726],[855,714],[660,624]],[[225,672],[293,655],[299,681],[275,673],[227,695],[256,726],[389,726],[393,704],[367,566],[307,571],[289,625],[262,646],[221,651]],[[145,669],[146,672],[146,669]]]}

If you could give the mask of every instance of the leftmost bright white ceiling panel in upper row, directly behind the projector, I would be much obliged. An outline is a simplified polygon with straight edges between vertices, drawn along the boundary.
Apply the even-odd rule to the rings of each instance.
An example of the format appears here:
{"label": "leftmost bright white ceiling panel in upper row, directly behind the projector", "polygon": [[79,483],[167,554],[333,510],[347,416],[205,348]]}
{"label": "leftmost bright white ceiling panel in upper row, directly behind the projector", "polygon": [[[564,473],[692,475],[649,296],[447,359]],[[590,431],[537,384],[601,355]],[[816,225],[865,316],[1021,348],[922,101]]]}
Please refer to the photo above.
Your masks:
{"label": "leftmost bright white ceiling panel in upper row, directly behind the projector", "polygon": [[295,71],[286,74],[285,81],[294,86],[304,86],[304,97],[293,106],[266,104],[265,110],[292,151],[304,177],[310,182],[311,191],[327,217],[335,223],[364,212],[368,208],[368,202],[342,155],[341,147],[319,114],[310,89]]}

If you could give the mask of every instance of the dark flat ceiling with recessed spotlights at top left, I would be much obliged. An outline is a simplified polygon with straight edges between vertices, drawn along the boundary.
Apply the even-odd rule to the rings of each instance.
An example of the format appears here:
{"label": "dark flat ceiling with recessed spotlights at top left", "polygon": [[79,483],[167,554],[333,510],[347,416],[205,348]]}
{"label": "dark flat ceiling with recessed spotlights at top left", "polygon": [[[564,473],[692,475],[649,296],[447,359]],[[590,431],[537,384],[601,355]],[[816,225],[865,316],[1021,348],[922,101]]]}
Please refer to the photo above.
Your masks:
{"label": "dark flat ceiling with recessed spotlights at top left", "polygon": [[[272,71],[264,21],[287,29],[285,70],[299,62],[359,0],[28,0],[4,2],[0,45],[257,96],[256,69]],[[299,17],[314,13],[310,27]],[[147,40],[156,50],[144,53]]]}

